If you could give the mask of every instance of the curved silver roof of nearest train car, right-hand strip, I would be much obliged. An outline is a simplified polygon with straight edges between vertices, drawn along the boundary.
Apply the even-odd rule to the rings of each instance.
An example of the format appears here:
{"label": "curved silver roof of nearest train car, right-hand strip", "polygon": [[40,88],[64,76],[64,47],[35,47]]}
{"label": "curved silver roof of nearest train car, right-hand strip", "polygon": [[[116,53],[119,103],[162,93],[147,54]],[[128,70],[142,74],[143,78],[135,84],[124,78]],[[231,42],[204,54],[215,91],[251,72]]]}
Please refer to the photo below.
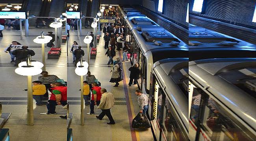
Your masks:
{"label": "curved silver roof of nearest train car, right-hand strip", "polygon": [[255,74],[256,58],[222,58],[189,62],[189,78],[197,81],[213,98],[252,127],[254,132]]}

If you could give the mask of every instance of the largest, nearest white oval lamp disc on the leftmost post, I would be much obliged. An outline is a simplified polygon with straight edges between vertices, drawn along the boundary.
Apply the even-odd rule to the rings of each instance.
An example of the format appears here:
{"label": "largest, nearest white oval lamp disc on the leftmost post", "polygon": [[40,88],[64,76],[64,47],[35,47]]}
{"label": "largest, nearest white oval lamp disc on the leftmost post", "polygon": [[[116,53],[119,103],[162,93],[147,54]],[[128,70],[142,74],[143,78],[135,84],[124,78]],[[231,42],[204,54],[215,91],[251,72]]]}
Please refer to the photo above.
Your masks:
{"label": "largest, nearest white oval lamp disc on the leftmost post", "polygon": [[22,76],[35,76],[42,72],[42,69],[34,66],[22,66],[15,69],[15,73]]}

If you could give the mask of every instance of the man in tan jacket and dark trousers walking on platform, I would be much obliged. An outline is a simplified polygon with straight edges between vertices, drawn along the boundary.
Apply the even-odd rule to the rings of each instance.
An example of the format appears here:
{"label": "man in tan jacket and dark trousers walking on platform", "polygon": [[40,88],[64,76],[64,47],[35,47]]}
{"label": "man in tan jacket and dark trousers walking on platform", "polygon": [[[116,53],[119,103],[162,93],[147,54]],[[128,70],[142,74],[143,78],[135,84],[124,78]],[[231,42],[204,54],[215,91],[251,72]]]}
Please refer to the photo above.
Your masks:
{"label": "man in tan jacket and dark trousers walking on platform", "polygon": [[98,109],[101,109],[102,112],[99,116],[96,116],[97,119],[102,120],[102,118],[107,115],[108,119],[110,120],[109,125],[115,124],[115,121],[111,115],[110,108],[114,107],[114,96],[111,92],[107,92],[106,89],[100,90],[102,97],[100,99],[100,104],[98,105]]}

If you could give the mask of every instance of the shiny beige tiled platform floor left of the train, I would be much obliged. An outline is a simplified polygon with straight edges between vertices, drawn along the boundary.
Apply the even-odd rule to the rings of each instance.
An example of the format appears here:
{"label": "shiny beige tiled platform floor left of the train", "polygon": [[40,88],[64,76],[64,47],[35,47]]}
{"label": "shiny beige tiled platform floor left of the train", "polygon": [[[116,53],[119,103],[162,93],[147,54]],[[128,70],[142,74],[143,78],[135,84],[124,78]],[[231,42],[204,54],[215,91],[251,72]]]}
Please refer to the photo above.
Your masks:
{"label": "shiny beige tiled platform floor left of the train", "polygon": [[[57,115],[40,115],[41,112],[47,112],[46,105],[36,106],[33,101],[33,117],[34,125],[26,125],[27,115],[27,93],[26,77],[20,76],[14,72],[17,67],[10,63],[9,54],[4,52],[4,49],[12,42],[18,41],[22,45],[28,45],[28,49],[35,51],[35,56],[32,60],[41,61],[41,45],[33,42],[33,39],[40,34],[41,31],[53,31],[53,29],[30,29],[30,34],[33,36],[22,36],[20,40],[19,31],[5,30],[3,38],[0,38],[0,100],[3,104],[3,112],[11,113],[4,128],[9,128],[10,140],[12,141],[44,141],[50,139],[52,141],[67,140],[67,122],[59,116],[67,113],[62,106],[56,107]],[[83,29],[83,34],[91,31],[91,29]],[[74,141],[153,141],[151,129],[134,130],[131,127],[132,119],[139,112],[137,105],[137,96],[135,90],[137,85],[128,86],[129,74],[128,68],[131,67],[130,61],[123,62],[124,80],[119,82],[119,87],[113,87],[110,83],[111,69],[113,65],[107,65],[109,58],[105,56],[104,40],[100,38],[97,45],[96,59],[90,60],[91,74],[95,75],[98,81],[101,82],[101,87],[106,88],[108,92],[112,92],[115,97],[114,107],[111,108],[111,114],[115,120],[115,125],[108,125],[108,118],[105,116],[101,121],[95,116],[100,114],[101,110],[95,106],[95,115],[87,115],[89,106],[84,107],[84,125],[80,125],[80,76],[74,72],[74,64],[72,63],[72,53],[70,48],[73,41],[77,41],[78,45],[82,45],[85,51],[83,60],[87,60],[87,45],[83,43],[83,36],[77,39],[77,31],[70,30],[70,38],[68,39],[68,56],[67,44],[61,43],[61,56],[58,60],[46,59],[46,71],[49,74],[54,74],[61,79],[67,81],[68,84],[68,102],[69,112],[74,113],[70,128],[73,130]],[[47,58],[48,48],[45,49]],[[116,51],[116,56],[122,58],[122,52]],[[39,76],[39,75],[38,75]],[[32,80],[37,80],[38,76],[33,76]],[[85,80],[85,76],[84,76]],[[58,129],[58,130],[56,130]]]}

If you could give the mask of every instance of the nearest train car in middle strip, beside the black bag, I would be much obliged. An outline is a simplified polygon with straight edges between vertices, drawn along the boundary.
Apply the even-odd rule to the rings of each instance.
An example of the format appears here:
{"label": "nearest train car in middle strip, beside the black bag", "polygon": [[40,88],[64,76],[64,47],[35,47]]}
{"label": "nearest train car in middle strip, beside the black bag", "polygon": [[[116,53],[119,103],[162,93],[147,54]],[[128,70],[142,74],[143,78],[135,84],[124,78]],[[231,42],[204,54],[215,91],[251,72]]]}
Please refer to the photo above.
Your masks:
{"label": "nearest train car in middle strip, beside the black bag", "polygon": [[150,74],[150,121],[157,141],[188,141],[188,58],[154,63]]}

